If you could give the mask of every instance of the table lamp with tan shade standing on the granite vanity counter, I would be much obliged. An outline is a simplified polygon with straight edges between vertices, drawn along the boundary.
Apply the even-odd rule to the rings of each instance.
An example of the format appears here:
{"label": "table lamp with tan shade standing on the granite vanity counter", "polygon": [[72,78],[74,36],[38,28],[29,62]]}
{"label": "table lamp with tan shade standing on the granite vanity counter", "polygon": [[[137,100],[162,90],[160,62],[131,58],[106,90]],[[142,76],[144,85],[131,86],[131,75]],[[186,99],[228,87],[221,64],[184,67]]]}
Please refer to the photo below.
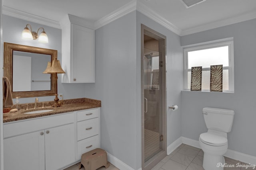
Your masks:
{"label": "table lamp with tan shade standing on the granite vanity counter", "polygon": [[[58,76],[57,76],[58,73],[66,73],[66,72],[64,72],[64,70],[62,70],[59,60],[54,59],[52,61],[52,66],[50,66],[49,63],[50,62],[48,62],[47,68],[43,73],[55,74],[56,80],[58,80]],[[55,94],[55,99],[54,99],[55,103],[52,105],[52,107],[60,107],[61,105],[58,102],[59,99],[58,99],[58,85],[57,85],[57,83],[55,83],[55,87],[56,87],[56,94]]]}

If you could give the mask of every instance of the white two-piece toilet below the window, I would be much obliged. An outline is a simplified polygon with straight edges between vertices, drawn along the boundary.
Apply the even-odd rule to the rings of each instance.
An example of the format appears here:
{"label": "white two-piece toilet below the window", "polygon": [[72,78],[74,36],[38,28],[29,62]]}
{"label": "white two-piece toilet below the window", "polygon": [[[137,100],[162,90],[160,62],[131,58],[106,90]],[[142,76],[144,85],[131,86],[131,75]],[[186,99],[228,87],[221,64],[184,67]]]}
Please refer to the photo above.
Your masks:
{"label": "white two-piece toilet below the window", "polygon": [[203,108],[204,121],[208,132],[199,137],[199,144],[204,151],[203,167],[205,170],[223,170],[217,166],[224,164],[224,156],[228,150],[227,133],[231,131],[234,111],[211,107]]}

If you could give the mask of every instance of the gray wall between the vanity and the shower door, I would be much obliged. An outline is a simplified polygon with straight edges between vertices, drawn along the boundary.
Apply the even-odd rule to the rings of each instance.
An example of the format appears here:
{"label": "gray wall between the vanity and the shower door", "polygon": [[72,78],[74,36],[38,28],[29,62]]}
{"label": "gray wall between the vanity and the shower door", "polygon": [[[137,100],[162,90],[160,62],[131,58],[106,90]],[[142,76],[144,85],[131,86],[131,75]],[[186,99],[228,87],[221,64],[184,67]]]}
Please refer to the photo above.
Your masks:
{"label": "gray wall between the vanity and the shower door", "polygon": [[136,169],[136,12],[95,35],[96,83],[86,84],[85,96],[102,101],[101,147]]}

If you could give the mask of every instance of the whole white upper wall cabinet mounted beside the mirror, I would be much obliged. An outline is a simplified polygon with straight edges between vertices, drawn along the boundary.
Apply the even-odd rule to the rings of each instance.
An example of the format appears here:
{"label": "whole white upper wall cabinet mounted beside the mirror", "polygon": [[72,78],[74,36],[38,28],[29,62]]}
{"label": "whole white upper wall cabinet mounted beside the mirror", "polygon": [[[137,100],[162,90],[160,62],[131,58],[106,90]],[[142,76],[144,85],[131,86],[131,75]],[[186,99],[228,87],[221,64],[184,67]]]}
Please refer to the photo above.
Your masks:
{"label": "whole white upper wall cabinet mounted beside the mirror", "polygon": [[62,83],[95,82],[95,31],[86,21],[69,15],[62,27]]}

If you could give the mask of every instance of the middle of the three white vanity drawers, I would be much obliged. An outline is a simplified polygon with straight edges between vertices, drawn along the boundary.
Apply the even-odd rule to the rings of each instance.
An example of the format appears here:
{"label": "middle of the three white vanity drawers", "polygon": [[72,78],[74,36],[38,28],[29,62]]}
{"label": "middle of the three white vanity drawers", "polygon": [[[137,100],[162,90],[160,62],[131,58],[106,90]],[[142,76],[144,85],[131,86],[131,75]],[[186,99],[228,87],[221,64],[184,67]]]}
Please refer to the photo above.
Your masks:
{"label": "middle of the three white vanity drawers", "polygon": [[99,134],[99,118],[80,121],[77,123],[77,140],[98,135]]}

